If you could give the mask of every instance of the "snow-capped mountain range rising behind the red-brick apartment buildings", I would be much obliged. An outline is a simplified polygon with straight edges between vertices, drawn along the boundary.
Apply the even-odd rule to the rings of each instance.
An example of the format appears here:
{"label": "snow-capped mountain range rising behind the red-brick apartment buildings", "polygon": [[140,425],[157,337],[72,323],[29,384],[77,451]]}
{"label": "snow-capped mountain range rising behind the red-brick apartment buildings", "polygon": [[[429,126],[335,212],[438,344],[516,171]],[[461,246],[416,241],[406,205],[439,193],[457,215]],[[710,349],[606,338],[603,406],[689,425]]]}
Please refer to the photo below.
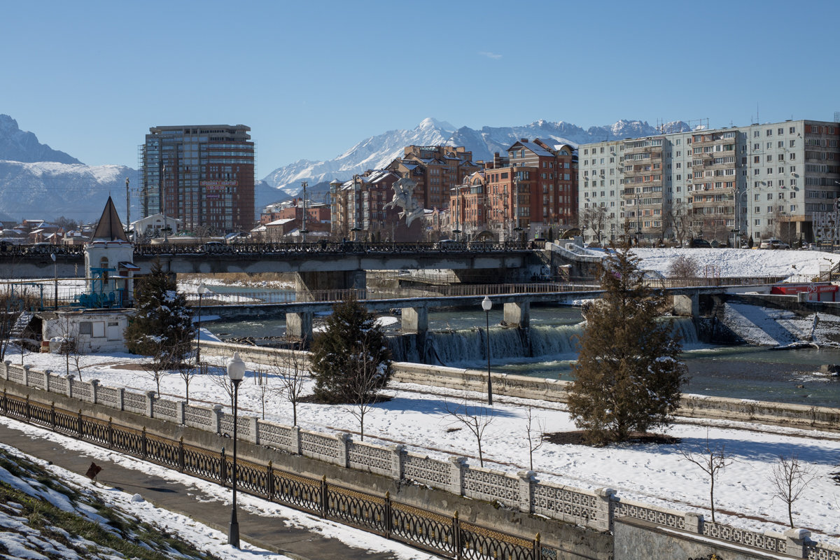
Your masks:
{"label": "snow-capped mountain range rising behind the red-brick apartment buildings", "polygon": [[[690,130],[682,121],[667,123],[662,132],[675,133]],[[265,182],[297,195],[301,181],[320,182],[339,179],[344,181],[356,173],[377,169],[402,156],[402,149],[409,145],[464,146],[472,151],[473,160],[490,160],[496,152],[504,152],[518,139],[554,140],[557,144],[586,144],[623,138],[637,138],[660,133],[643,121],[620,120],[603,127],[580,128],[571,123],[551,123],[539,120],[518,127],[469,127],[455,128],[449,123],[426,118],[413,130],[391,130],[362,140],[359,144],[329,161],[299,160],[285,165],[265,177]]]}

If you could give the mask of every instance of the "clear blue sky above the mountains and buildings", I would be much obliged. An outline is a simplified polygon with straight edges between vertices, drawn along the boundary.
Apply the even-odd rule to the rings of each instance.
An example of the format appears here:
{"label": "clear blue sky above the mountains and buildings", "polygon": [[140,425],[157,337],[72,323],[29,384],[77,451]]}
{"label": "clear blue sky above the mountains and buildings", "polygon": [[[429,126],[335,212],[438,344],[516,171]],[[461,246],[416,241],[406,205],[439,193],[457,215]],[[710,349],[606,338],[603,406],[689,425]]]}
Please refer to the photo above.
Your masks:
{"label": "clear blue sky above the mountains and buildings", "polygon": [[247,124],[258,175],[433,117],[832,120],[840,2],[0,1],[0,113],[89,165]]}

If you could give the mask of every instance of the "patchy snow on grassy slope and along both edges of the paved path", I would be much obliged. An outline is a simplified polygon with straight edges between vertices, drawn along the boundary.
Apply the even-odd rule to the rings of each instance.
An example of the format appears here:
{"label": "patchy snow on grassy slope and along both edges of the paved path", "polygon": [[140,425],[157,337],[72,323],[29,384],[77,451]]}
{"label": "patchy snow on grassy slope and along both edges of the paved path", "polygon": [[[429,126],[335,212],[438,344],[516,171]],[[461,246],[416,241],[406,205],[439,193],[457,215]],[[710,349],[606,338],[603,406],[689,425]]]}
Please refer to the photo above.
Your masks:
{"label": "patchy snow on grassy slope and along both edges of the paved path", "polygon": [[[103,449],[87,442],[80,442],[72,437],[47,432],[38,427],[29,426],[28,424],[6,417],[0,417],[0,422],[27,432],[30,437],[43,437],[60,446],[84,453],[92,457],[94,461],[113,461],[124,468],[132,468],[139,472],[152,474],[162,479],[195,488],[202,495],[207,495],[213,500],[218,500],[227,507],[231,505],[230,489],[218,486],[218,484],[180,474],[175,470],[160,467],[152,463],[145,463],[139,459],[123,456],[119,453],[113,453],[108,451],[108,449]],[[175,532],[182,541],[189,542],[198,550],[209,552],[213,557],[219,558],[220,560],[255,560],[257,558],[265,560],[288,560],[289,558],[250,545],[244,536],[241,542],[241,549],[236,549],[228,545],[228,535],[226,533],[198,523],[190,517],[156,507],[145,501],[142,495],[126,494],[105,484],[91,484],[90,479],[81,476],[81,474],[71,473],[64,468],[47,464],[45,461],[30,457],[19,452],[14,447],[9,447],[3,443],[0,443],[0,448],[3,449],[3,455],[6,455],[11,460],[20,457],[39,465],[39,467],[47,470],[54,477],[55,481],[58,481],[66,488],[78,494],[96,495],[99,500],[102,500],[111,508],[118,510],[129,526],[134,520],[137,520],[149,523],[155,527],[160,527],[161,530],[165,529],[165,531]],[[24,467],[24,470],[27,469]],[[31,495],[36,499],[45,500],[59,507],[61,510],[76,513],[87,518],[89,521],[97,523],[107,521],[103,520],[101,516],[98,516],[95,510],[85,503],[85,500],[70,500],[66,494],[56,492],[54,489],[49,489],[44,484],[40,484],[34,479],[34,476],[15,476],[5,468],[0,467],[0,482],[20,489],[25,494]],[[237,498],[237,504],[242,510],[248,511],[249,513],[255,513],[265,517],[282,518],[282,521],[278,519],[278,523],[282,522],[286,526],[316,531],[323,536],[344,542],[344,544],[350,547],[361,548],[370,552],[390,552],[394,557],[405,558],[406,560],[409,558],[412,560],[433,560],[435,558],[430,554],[418,552],[410,547],[386,540],[380,536],[352,529],[333,521],[325,521],[317,516],[310,516],[267,500],[260,500],[254,496],[240,494]],[[8,557],[38,559],[45,558],[39,552],[55,552],[60,557],[78,558],[71,549],[64,546],[55,537],[55,533],[61,534],[62,530],[60,528],[55,528],[54,531],[50,531],[50,526],[34,527],[29,523],[28,519],[15,516],[13,513],[14,509],[14,505],[0,505],[0,547],[5,546],[8,552],[13,553],[13,556]],[[66,531],[64,532],[66,533]],[[82,548],[87,548],[92,544],[77,536],[64,536],[69,537],[71,542],[79,544]],[[99,549],[97,552],[100,552],[103,558],[121,557],[115,551],[111,551],[112,554],[108,554],[108,549]],[[180,557],[174,550],[165,552],[171,557]]]}

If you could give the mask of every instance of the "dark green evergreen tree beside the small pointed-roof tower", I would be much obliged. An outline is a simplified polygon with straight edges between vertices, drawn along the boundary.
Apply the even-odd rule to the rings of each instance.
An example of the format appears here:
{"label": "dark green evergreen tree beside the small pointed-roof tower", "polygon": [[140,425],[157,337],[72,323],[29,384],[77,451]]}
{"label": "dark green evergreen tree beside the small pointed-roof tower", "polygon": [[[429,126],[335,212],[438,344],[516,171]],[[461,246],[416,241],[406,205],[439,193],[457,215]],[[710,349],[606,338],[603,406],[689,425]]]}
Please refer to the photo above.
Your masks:
{"label": "dark green evergreen tree beside the small pointed-roof tower", "polygon": [[177,292],[173,277],[152,265],[151,273],[137,280],[137,312],[125,329],[129,352],[152,356],[166,369],[173,369],[192,351],[196,328],[192,309]]}

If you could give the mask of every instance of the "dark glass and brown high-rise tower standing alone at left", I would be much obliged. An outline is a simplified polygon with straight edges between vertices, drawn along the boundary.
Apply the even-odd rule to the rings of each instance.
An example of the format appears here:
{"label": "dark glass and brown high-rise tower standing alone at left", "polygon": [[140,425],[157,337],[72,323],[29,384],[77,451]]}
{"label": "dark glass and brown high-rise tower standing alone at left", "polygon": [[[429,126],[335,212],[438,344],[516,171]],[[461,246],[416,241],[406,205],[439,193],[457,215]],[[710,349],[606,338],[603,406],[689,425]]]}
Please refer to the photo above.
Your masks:
{"label": "dark glass and brown high-rise tower standing alone at left", "polygon": [[242,124],[152,127],[140,146],[140,212],[165,213],[187,231],[249,230],[255,223],[255,150]]}

